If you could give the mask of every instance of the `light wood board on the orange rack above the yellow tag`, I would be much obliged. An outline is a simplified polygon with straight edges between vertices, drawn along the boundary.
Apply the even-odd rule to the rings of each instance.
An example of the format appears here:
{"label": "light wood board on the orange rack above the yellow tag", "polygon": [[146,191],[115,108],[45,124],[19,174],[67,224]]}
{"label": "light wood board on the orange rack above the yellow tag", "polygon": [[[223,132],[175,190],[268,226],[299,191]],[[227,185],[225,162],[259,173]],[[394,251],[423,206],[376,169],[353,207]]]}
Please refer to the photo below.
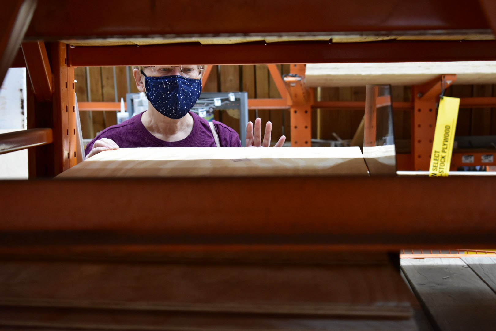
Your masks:
{"label": "light wood board on the orange rack above the yellow tag", "polygon": [[308,86],[416,85],[455,73],[454,84],[496,83],[496,61],[308,64]]}

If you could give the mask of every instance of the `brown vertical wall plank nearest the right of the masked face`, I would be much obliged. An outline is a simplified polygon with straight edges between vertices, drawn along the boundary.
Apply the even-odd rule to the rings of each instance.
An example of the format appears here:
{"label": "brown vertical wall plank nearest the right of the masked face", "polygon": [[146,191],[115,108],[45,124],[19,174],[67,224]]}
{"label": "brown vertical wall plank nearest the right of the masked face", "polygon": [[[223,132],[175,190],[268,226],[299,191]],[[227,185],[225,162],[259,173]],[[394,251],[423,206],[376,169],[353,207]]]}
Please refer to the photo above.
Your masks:
{"label": "brown vertical wall plank nearest the right of the masked face", "polygon": [[[236,92],[240,90],[240,69],[239,66],[220,66],[220,91]],[[222,111],[222,123],[240,133],[239,110],[231,109]],[[243,128],[246,130],[246,128]]]}

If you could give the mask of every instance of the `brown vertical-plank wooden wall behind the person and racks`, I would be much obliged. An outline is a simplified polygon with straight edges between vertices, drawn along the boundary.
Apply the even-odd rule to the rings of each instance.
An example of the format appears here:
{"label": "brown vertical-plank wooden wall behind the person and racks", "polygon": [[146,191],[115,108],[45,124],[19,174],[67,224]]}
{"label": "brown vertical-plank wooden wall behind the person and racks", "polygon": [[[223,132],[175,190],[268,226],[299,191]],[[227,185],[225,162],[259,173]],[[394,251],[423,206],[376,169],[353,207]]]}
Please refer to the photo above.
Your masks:
{"label": "brown vertical-plank wooden wall behind the person and racks", "polygon": [[[75,68],[76,94],[78,101],[116,101],[125,100],[128,91],[126,69],[115,67],[116,85],[114,86],[113,67]],[[289,65],[279,65],[282,74],[289,72]],[[89,86],[89,90],[88,90]],[[130,92],[138,92],[130,73]],[[248,98],[279,98],[279,92],[265,65],[214,66],[205,83],[204,91],[230,92],[246,91]],[[317,95],[317,93],[315,93]],[[484,97],[496,96],[496,85],[453,85],[446,91],[447,96]],[[411,101],[410,86],[393,86],[393,101]],[[324,87],[320,88],[321,101],[365,101],[364,87]],[[317,118],[320,114],[319,119]],[[341,139],[351,139],[363,117],[363,110],[326,110],[312,112],[312,138],[335,140],[335,132]],[[103,129],[117,123],[115,112],[80,112],[83,138],[93,138]],[[275,142],[282,134],[287,140],[290,135],[290,115],[288,110],[249,110],[248,119],[254,121],[258,116],[262,125],[267,121],[273,124],[272,140]],[[411,110],[395,110],[394,125],[397,139],[410,139]],[[217,112],[216,120],[240,132],[239,120],[227,112]],[[317,128],[317,125],[319,128]],[[318,130],[317,130],[318,129]],[[496,109],[460,109],[456,135],[496,134]]]}

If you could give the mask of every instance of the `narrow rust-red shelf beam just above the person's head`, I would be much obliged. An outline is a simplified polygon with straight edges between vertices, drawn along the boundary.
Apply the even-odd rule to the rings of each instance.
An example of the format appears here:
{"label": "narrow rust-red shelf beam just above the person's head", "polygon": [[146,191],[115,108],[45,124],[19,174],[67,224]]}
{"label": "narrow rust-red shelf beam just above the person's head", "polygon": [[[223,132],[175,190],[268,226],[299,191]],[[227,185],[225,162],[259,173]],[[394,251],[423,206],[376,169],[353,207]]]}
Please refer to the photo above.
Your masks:
{"label": "narrow rust-red shelf beam just above the person's head", "polygon": [[[166,54],[167,56],[164,56]],[[494,61],[496,42],[384,41],[236,45],[76,46],[69,66],[307,64],[358,62]]]}

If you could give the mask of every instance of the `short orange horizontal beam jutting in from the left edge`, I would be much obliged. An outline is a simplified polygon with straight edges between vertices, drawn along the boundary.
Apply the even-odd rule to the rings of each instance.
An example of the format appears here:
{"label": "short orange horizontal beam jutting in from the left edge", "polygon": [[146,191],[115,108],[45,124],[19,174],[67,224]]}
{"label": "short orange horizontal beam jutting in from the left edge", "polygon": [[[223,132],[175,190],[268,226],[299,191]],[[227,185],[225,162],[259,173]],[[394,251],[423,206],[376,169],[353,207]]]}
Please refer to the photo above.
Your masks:
{"label": "short orange horizontal beam jutting in from the left edge", "polygon": [[0,154],[46,145],[54,141],[52,129],[28,129],[0,134]]}

